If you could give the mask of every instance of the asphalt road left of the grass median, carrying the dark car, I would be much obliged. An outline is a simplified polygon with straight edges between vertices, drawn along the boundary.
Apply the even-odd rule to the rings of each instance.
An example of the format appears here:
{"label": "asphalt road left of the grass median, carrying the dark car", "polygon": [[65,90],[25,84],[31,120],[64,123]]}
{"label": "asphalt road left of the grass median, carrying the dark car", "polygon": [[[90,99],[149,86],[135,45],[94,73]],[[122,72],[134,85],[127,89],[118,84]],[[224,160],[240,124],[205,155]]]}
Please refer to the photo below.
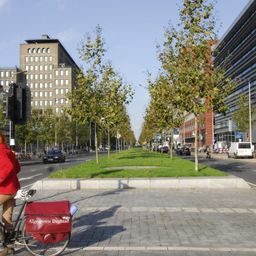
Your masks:
{"label": "asphalt road left of the grass median, carrying the dark car", "polygon": [[[108,151],[99,152],[99,157],[108,154]],[[90,161],[96,157],[95,153],[82,155],[74,155],[66,157],[65,163],[43,163],[43,160],[38,160],[37,163],[21,166],[21,171],[18,174],[20,187],[28,189],[36,181],[49,177],[52,172],[64,170],[72,166],[79,165],[86,161]],[[31,160],[32,162],[32,160]],[[22,164],[22,162],[21,162]]]}

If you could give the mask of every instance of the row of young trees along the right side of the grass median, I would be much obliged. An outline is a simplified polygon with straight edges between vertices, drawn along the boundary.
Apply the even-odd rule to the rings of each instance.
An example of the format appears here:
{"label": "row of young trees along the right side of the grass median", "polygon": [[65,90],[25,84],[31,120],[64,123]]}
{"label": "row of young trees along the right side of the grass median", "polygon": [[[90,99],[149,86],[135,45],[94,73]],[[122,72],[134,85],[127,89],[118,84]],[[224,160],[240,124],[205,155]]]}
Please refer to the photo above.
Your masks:
{"label": "row of young trees along the right side of the grass median", "polygon": [[[224,76],[225,61],[212,67],[212,48],[217,39],[213,9],[214,3],[207,0],[183,0],[180,23],[169,23],[165,29],[163,46],[157,45],[159,74],[154,81],[148,78],[150,103],[145,111],[141,142],[151,140],[158,132],[179,127],[186,113],[194,114],[198,134],[197,123],[202,114],[210,109],[223,114],[228,111],[224,98],[235,84]],[[197,140],[195,136],[195,171]]]}

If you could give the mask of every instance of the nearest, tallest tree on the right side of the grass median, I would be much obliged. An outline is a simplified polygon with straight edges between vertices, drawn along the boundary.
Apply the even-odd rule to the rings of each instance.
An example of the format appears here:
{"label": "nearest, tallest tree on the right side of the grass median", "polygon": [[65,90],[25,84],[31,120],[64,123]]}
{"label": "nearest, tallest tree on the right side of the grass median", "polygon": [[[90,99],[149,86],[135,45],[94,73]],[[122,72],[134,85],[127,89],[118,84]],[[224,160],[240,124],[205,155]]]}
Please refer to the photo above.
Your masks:
{"label": "nearest, tallest tree on the right side of the grass median", "polygon": [[[207,0],[183,0],[177,29],[166,29],[166,41],[159,52],[162,67],[174,84],[172,101],[181,110],[195,115],[195,171],[198,171],[198,117],[214,107],[218,113],[228,110],[224,98],[233,84],[224,78],[224,67],[212,67],[212,46],[217,38],[213,3]],[[182,102],[182,104],[180,104]]]}

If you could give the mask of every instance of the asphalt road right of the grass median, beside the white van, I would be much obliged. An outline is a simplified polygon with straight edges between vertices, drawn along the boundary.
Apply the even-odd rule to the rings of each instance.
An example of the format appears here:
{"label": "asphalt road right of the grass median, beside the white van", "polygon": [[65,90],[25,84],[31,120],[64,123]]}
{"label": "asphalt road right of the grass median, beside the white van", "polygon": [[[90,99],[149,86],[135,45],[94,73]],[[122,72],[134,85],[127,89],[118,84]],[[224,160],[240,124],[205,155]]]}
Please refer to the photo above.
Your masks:
{"label": "asphalt road right of the grass median, beside the white van", "polygon": [[[195,155],[191,156],[186,155],[177,155],[174,153],[174,156],[181,157],[183,159],[195,162]],[[250,185],[256,186],[256,164],[255,163],[246,163],[243,161],[236,161],[232,158],[217,158],[214,157],[214,154],[211,155],[211,158],[206,158],[203,154],[198,155],[198,162],[204,166],[209,166],[215,169],[218,169],[222,172],[227,172],[230,175],[244,179]]]}

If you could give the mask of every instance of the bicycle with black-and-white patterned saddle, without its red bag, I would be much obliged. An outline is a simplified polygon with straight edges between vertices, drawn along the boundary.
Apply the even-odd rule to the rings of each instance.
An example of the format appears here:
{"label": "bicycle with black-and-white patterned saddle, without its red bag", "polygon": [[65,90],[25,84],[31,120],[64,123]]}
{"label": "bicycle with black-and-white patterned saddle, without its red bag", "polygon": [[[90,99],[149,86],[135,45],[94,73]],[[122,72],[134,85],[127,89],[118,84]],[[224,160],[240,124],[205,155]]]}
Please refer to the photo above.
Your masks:
{"label": "bicycle with black-and-white patterned saddle, without its red bag", "polygon": [[[13,225],[13,227],[4,227],[4,225],[0,222],[0,226],[3,229],[3,232],[6,236],[3,245],[7,248],[15,248],[18,245],[23,245],[26,250],[35,256],[57,256],[62,253],[69,241],[71,232],[68,233],[67,238],[62,241],[55,243],[43,243],[41,241],[35,240],[33,234],[26,234],[26,226],[25,219],[26,216],[21,218],[21,214],[23,212],[24,207],[28,204],[28,199],[35,195],[36,190],[20,190],[20,197],[15,197],[23,200],[23,204],[21,206],[20,212],[17,216],[17,219]],[[17,229],[16,229],[17,227]]]}

